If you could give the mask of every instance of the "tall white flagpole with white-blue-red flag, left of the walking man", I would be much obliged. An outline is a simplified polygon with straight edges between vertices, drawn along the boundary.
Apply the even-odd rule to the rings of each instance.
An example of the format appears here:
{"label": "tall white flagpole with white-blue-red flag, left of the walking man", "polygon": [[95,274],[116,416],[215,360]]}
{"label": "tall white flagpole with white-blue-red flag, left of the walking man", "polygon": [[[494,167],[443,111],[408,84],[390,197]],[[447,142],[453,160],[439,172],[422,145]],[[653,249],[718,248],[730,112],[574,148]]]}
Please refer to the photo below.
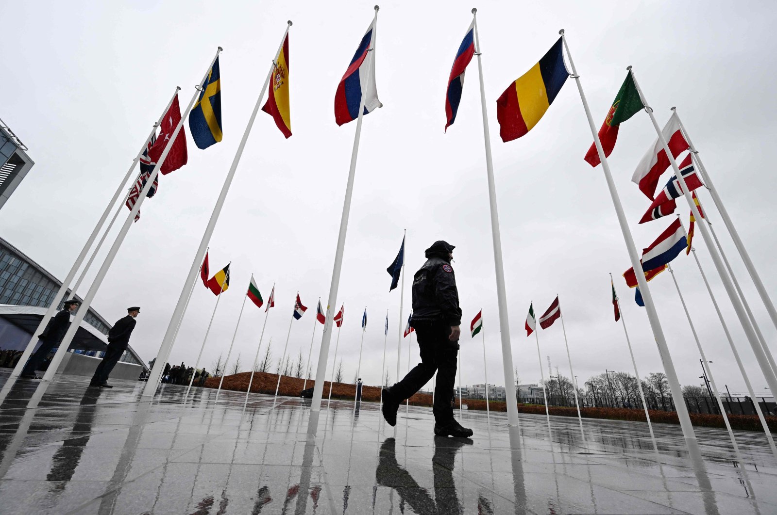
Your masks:
{"label": "tall white flagpole with white-blue-red flag, left of the walking man", "polygon": [[[371,70],[371,61],[375,54],[375,40],[378,35],[378,5],[375,5],[375,18],[372,23],[372,44],[364,60],[363,66]],[[369,77],[369,80],[374,80]],[[326,376],[326,362],[329,361],[329,343],[332,340],[332,314],[329,306],[335,306],[337,303],[337,289],[340,287],[340,271],[343,269],[343,251],[345,250],[345,237],[348,230],[348,216],[350,215],[350,199],[354,194],[354,177],[356,175],[356,158],[359,153],[359,138],[361,137],[361,120],[364,118],[364,101],[367,99],[367,92],[362,92],[361,102],[359,102],[359,117],[356,122],[356,134],[354,135],[354,150],[350,155],[350,170],[348,171],[348,182],[345,188],[345,199],[343,200],[343,216],[340,218],[340,233],[337,235],[337,248],[335,251],[335,262],[332,269],[332,282],[329,285],[329,300],[326,303],[326,323],[324,324],[324,333],[321,338],[321,348],[319,349],[319,365],[315,371],[315,386],[313,388],[313,399],[311,402],[312,413],[321,411],[321,398],[324,392],[324,380]]]}

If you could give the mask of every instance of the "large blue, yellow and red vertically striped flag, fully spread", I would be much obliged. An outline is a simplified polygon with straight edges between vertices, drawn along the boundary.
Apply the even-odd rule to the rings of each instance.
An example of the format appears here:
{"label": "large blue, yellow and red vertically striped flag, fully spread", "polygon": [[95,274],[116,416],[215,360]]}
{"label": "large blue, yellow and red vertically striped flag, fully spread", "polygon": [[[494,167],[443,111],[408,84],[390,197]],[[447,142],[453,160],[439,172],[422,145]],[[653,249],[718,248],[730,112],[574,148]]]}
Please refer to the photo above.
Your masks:
{"label": "large blue, yellow and red vertically striped flag, fully spread", "polygon": [[497,99],[502,141],[524,136],[537,125],[569,76],[559,37],[548,53],[531,70],[514,80]]}

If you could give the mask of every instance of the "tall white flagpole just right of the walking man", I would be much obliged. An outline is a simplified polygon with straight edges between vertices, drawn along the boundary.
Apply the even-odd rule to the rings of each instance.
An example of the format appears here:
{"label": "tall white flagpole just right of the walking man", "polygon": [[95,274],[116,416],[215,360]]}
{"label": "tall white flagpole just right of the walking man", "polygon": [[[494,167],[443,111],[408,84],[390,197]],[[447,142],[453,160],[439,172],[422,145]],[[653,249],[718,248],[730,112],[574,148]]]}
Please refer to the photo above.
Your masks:
{"label": "tall white flagpole just right of the walking man", "polygon": [[[480,79],[480,109],[483,112],[483,139],[486,143],[486,177],[488,178],[488,196],[491,210],[491,237],[493,239],[493,262],[497,276],[497,303],[499,305],[499,328],[502,340],[502,365],[504,369],[504,382],[512,385],[513,377],[513,351],[510,348],[510,321],[507,316],[507,292],[504,288],[504,265],[502,263],[502,238],[499,231],[499,213],[497,213],[497,185],[493,178],[493,163],[491,160],[491,137],[488,128],[488,112],[486,111],[486,88],[483,85],[483,62],[481,61],[480,36],[477,21],[477,9],[472,9],[472,19],[475,24],[475,55],[478,57],[478,75]],[[507,399],[507,424],[518,425],[518,404],[515,392],[511,388],[505,389]]]}

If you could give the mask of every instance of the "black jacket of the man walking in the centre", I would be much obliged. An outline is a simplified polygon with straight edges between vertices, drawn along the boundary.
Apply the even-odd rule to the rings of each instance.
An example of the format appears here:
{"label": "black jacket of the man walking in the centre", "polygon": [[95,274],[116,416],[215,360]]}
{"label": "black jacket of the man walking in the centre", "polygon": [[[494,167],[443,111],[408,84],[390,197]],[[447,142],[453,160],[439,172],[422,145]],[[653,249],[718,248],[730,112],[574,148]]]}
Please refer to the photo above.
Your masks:
{"label": "black jacket of the man walking in the centre", "polygon": [[444,321],[449,326],[462,323],[458,307],[456,276],[443,258],[427,259],[413,276],[413,321]]}

